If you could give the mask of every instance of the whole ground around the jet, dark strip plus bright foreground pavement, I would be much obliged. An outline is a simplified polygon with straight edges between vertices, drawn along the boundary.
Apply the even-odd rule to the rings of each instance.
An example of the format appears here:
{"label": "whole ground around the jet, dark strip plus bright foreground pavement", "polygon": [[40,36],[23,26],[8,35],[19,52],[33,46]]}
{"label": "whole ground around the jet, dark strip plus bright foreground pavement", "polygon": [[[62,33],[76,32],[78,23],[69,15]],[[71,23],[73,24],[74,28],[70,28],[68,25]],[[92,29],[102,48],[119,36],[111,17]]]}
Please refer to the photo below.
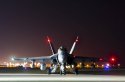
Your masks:
{"label": "whole ground around the jet, dark strip plus bright foreground pavement", "polygon": [[78,75],[48,75],[38,68],[0,68],[0,82],[125,82],[125,69],[83,69]]}

